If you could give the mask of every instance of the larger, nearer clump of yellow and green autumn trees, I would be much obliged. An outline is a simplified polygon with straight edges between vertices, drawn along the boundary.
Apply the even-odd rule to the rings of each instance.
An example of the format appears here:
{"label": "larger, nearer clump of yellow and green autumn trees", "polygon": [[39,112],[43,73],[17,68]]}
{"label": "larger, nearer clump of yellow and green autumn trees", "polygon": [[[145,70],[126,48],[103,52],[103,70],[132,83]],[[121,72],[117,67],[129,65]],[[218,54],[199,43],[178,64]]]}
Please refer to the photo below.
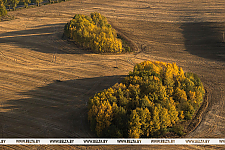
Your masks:
{"label": "larger, nearer clump of yellow and green autumn trees", "polygon": [[204,96],[197,75],[176,64],[145,61],[111,88],[90,98],[88,120],[99,137],[157,137],[182,131]]}

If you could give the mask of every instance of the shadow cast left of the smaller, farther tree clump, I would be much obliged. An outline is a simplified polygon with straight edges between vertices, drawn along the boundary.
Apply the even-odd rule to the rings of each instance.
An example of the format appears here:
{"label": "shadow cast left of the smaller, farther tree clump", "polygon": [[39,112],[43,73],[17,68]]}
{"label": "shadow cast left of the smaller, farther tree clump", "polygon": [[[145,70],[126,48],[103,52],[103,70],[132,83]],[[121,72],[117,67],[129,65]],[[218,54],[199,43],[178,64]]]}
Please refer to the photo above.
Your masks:
{"label": "shadow cast left of the smaller, farther tree clump", "polygon": [[84,54],[88,53],[63,37],[65,23],[35,26],[0,34],[0,44],[12,44],[42,53]]}

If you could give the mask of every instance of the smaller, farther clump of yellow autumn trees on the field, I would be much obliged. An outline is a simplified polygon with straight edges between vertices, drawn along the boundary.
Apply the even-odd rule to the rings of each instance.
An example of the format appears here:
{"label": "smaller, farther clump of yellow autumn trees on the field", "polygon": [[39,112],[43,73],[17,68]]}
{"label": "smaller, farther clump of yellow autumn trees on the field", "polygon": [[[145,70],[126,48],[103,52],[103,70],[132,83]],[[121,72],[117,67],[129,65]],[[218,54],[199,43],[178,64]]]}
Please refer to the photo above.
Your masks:
{"label": "smaller, farther clump of yellow autumn trees on the field", "polygon": [[107,19],[96,12],[91,13],[90,17],[76,14],[65,25],[64,35],[96,53],[121,53],[127,50],[122,47],[121,39],[117,38],[116,31]]}

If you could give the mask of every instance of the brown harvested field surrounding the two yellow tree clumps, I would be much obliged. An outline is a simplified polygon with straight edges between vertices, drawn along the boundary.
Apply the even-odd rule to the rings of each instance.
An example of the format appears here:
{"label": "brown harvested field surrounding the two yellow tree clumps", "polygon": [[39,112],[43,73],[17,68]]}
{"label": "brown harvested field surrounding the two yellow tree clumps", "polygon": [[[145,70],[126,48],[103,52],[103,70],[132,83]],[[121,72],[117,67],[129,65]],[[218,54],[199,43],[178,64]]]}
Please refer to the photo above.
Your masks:
{"label": "brown harvested field surrounding the two yellow tree clumps", "polygon": [[[184,71],[197,73],[208,90],[209,107],[200,125],[187,137],[224,138],[224,8],[224,0],[72,0],[9,12],[16,19],[0,22],[0,137],[95,137],[86,119],[89,97],[119,82],[135,63],[154,60],[176,62]],[[74,14],[88,15],[95,11],[106,16],[139,51],[92,54],[62,39],[64,24]],[[174,149],[175,146],[2,148]],[[224,146],[179,148],[224,149]]]}

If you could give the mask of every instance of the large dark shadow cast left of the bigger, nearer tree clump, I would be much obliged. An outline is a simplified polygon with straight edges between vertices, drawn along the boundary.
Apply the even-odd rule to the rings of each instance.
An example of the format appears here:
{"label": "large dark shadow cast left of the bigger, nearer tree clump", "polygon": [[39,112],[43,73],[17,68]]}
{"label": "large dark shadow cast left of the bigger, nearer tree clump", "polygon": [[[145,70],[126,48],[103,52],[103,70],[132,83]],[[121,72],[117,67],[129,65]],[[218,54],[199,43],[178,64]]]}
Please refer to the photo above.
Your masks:
{"label": "large dark shadow cast left of the bigger, nearer tree clump", "polygon": [[3,138],[95,137],[87,121],[87,102],[96,92],[120,82],[124,76],[54,81],[23,93],[23,99],[1,104]]}

